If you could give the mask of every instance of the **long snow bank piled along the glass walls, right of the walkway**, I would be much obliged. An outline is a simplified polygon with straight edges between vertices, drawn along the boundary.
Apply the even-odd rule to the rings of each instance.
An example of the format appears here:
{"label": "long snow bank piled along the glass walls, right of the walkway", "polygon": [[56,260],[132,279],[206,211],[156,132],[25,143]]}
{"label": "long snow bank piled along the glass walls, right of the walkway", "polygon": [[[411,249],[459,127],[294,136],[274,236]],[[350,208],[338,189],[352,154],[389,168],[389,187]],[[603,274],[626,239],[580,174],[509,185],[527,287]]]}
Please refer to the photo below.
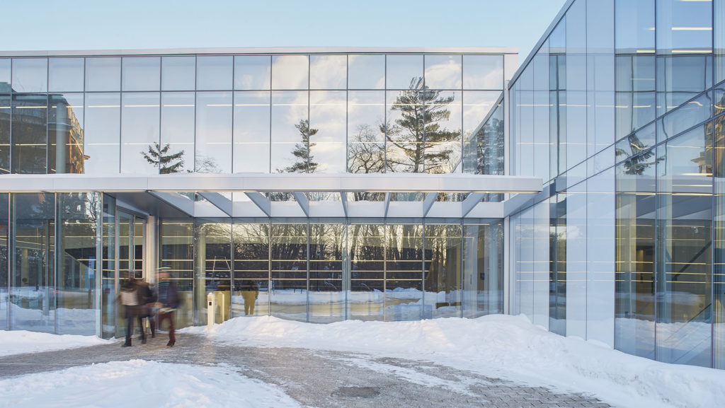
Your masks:
{"label": "long snow bank piled along the glass walls, right of the walkway", "polygon": [[353,351],[426,359],[559,391],[589,392],[621,407],[716,407],[725,401],[725,371],[669,365],[566,338],[526,317],[415,322],[346,320],[315,325],[275,317],[239,317],[213,328],[186,328],[239,346]]}

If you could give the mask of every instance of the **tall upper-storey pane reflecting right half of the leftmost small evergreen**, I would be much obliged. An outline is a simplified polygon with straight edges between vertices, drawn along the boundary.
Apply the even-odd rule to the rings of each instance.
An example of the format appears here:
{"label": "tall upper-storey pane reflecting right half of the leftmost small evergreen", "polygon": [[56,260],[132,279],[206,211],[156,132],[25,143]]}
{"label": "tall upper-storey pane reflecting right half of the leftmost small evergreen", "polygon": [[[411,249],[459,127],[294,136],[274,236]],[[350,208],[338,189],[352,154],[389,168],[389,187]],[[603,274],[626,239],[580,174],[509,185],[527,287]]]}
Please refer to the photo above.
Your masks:
{"label": "tall upper-storey pane reflecting right half of the leftmost small evergreen", "polygon": [[159,173],[194,170],[194,112],[193,92],[161,93],[161,149],[165,165]]}

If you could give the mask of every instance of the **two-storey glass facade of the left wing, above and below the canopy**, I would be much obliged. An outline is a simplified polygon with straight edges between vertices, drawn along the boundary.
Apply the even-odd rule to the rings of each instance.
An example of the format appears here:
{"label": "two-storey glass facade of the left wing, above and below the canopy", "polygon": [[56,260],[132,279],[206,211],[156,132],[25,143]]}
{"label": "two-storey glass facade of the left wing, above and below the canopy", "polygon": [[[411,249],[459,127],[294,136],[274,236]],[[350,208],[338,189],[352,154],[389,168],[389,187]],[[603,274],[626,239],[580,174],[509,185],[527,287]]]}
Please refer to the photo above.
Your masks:
{"label": "two-storey glass facade of the left wing, above and below the canopy", "polygon": [[[216,51],[0,57],[0,329],[123,336],[119,287],[129,272],[153,282],[157,267],[181,290],[181,327],[207,322],[207,296],[218,322],[245,315],[250,285],[254,315],[309,322],[503,312],[502,216],[460,210],[468,196],[502,205],[501,193],[114,183],[503,175],[514,52]],[[16,175],[107,187],[2,187]]]}

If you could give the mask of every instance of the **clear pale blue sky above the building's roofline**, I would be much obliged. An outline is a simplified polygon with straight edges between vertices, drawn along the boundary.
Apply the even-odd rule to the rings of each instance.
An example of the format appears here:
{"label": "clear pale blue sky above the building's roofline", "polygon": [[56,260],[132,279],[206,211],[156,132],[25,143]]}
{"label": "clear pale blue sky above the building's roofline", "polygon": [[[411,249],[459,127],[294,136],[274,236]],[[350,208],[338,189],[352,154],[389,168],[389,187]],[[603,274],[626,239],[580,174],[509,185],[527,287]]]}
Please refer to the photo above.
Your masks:
{"label": "clear pale blue sky above the building's roofline", "polygon": [[0,0],[0,51],[513,46],[566,0]]}

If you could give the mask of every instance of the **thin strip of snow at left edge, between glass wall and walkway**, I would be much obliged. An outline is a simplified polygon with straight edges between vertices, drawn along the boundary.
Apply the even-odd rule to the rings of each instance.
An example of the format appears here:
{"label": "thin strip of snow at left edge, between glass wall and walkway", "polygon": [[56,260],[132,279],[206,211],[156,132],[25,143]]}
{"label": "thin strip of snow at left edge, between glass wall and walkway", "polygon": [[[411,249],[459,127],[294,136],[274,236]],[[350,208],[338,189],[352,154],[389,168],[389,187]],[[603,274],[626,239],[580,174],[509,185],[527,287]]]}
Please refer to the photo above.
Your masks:
{"label": "thin strip of snow at left edge, between glass wall and walkway", "polygon": [[76,347],[107,344],[110,341],[96,336],[72,334],[35,333],[26,330],[0,330],[0,357],[10,354],[37,353],[40,351],[75,349]]}

